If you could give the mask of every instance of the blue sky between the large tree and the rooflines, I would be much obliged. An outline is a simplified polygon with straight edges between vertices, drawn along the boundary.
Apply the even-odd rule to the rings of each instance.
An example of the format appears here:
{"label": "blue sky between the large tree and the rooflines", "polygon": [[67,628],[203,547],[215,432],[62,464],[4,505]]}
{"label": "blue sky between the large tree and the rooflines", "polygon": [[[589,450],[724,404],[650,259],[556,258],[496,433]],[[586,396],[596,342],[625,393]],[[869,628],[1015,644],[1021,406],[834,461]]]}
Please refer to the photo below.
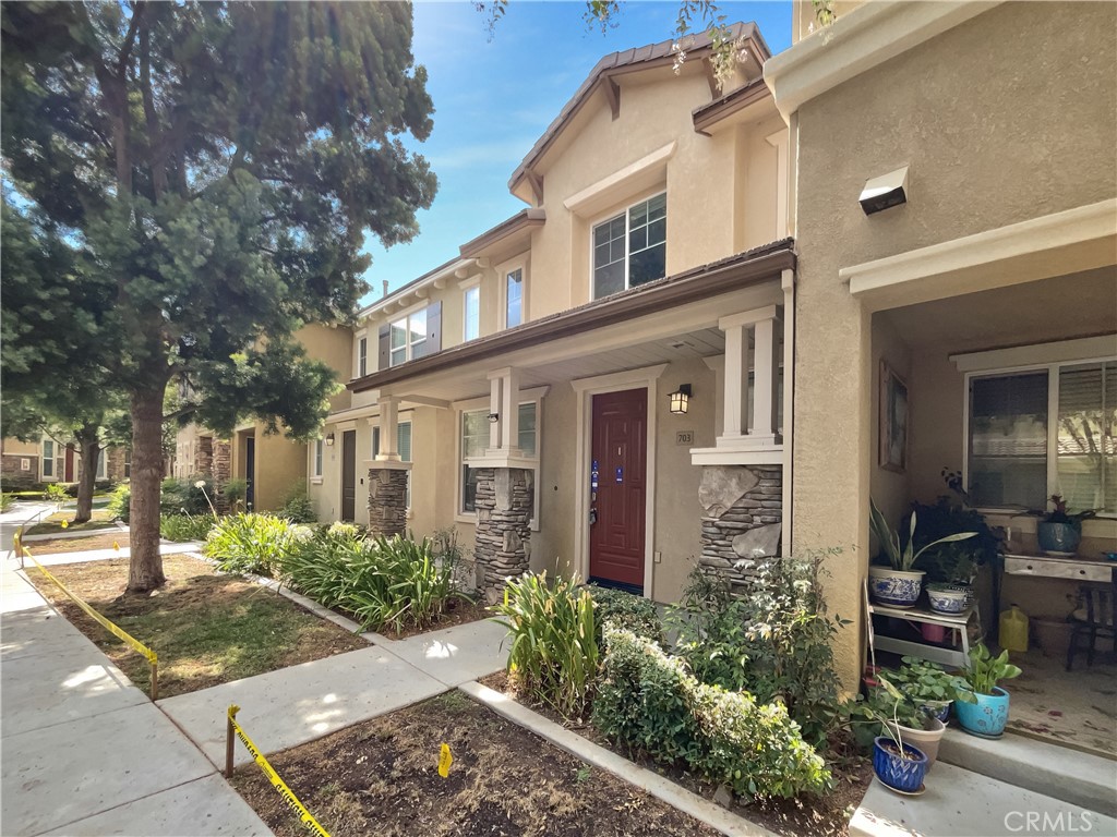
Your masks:
{"label": "blue sky between the large tree and the rooflines", "polygon": [[[471,2],[417,2],[416,60],[426,65],[435,129],[409,143],[431,163],[438,195],[419,213],[420,233],[384,250],[370,239],[365,279],[381,294],[458,254],[459,244],[524,209],[508,177],[603,55],[670,38],[675,0],[622,4],[618,26],[590,30],[584,2],[512,0],[491,40]],[[791,2],[726,2],[727,22],[752,20],[773,54],[791,44]]]}

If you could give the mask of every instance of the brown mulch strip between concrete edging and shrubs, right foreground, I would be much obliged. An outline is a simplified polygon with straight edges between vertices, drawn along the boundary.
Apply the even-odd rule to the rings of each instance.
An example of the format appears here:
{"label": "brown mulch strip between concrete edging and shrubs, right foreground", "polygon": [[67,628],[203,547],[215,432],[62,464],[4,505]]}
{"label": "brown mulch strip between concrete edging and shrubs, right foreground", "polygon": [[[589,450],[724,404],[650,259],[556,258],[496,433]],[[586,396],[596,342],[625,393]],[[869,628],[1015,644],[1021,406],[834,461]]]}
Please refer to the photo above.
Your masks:
{"label": "brown mulch strip between concrete edging and shrubs, right foreground", "polygon": [[[660,764],[639,752],[613,744],[596,728],[588,722],[569,721],[546,704],[526,700],[518,694],[508,682],[507,672],[497,672],[479,681],[483,685],[500,692],[505,696],[521,703],[547,720],[562,724],[571,732],[576,732],[584,739],[629,759],[647,770],[666,776],[681,785],[687,790],[713,800],[717,788],[703,781],[680,768],[669,768]],[[836,788],[824,797],[803,797],[800,799],[757,799],[751,805],[734,800],[729,810],[744,819],[762,825],[777,834],[789,837],[848,837],[849,820],[861,804],[869,783],[872,781],[872,763],[860,757],[843,760],[841,764],[830,764],[836,779]]]}

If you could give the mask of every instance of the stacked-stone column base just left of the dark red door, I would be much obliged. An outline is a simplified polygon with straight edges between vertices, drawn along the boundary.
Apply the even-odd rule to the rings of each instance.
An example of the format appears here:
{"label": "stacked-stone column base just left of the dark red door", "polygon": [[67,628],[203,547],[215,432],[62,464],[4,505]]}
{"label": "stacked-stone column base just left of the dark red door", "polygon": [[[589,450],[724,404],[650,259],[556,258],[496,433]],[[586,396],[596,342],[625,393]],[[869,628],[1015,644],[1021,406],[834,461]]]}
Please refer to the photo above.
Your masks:
{"label": "stacked-stone column base just left of the dark red door", "polygon": [[477,471],[477,585],[489,604],[504,595],[508,578],[527,571],[532,555],[533,477],[521,468]]}

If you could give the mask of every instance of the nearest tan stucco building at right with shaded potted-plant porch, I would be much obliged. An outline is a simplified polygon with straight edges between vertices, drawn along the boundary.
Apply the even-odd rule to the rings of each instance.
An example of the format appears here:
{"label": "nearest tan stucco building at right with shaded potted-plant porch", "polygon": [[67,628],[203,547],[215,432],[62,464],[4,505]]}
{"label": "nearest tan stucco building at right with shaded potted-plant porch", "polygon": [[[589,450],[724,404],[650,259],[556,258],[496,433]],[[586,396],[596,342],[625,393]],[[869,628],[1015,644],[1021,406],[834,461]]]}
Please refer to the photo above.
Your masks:
{"label": "nearest tan stucco building at right with shaded potted-plant porch", "polygon": [[[798,140],[794,548],[846,547],[827,598],[862,613],[870,497],[896,521],[944,468],[1012,549],[1052,493],[1100,509],[1080,555],[1117,548],[1117,6],[843,3],[810,37],[796,6],[764,70]],[[905,167],[907,202],[866,215]],[[882,369],[906,451],[881,451]],[[1004,584],[1033,617],[1073,607],[1069,578]],[[849,686],[863,626],[836,647]]]}

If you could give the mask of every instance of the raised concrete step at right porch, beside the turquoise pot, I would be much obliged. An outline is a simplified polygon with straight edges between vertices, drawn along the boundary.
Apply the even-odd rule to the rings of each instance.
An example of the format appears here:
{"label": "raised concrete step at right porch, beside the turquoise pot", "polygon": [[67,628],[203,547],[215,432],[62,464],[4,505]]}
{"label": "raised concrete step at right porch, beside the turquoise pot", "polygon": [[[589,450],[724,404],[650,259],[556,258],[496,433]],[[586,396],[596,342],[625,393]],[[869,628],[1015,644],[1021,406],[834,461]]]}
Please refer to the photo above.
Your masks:
{"label": "raised concrete step at right porch, beside the turquoise pot", "polygon": [[1117,817],[1117,761],[1006,732],[996,741],[948,729],[939,761]]}

